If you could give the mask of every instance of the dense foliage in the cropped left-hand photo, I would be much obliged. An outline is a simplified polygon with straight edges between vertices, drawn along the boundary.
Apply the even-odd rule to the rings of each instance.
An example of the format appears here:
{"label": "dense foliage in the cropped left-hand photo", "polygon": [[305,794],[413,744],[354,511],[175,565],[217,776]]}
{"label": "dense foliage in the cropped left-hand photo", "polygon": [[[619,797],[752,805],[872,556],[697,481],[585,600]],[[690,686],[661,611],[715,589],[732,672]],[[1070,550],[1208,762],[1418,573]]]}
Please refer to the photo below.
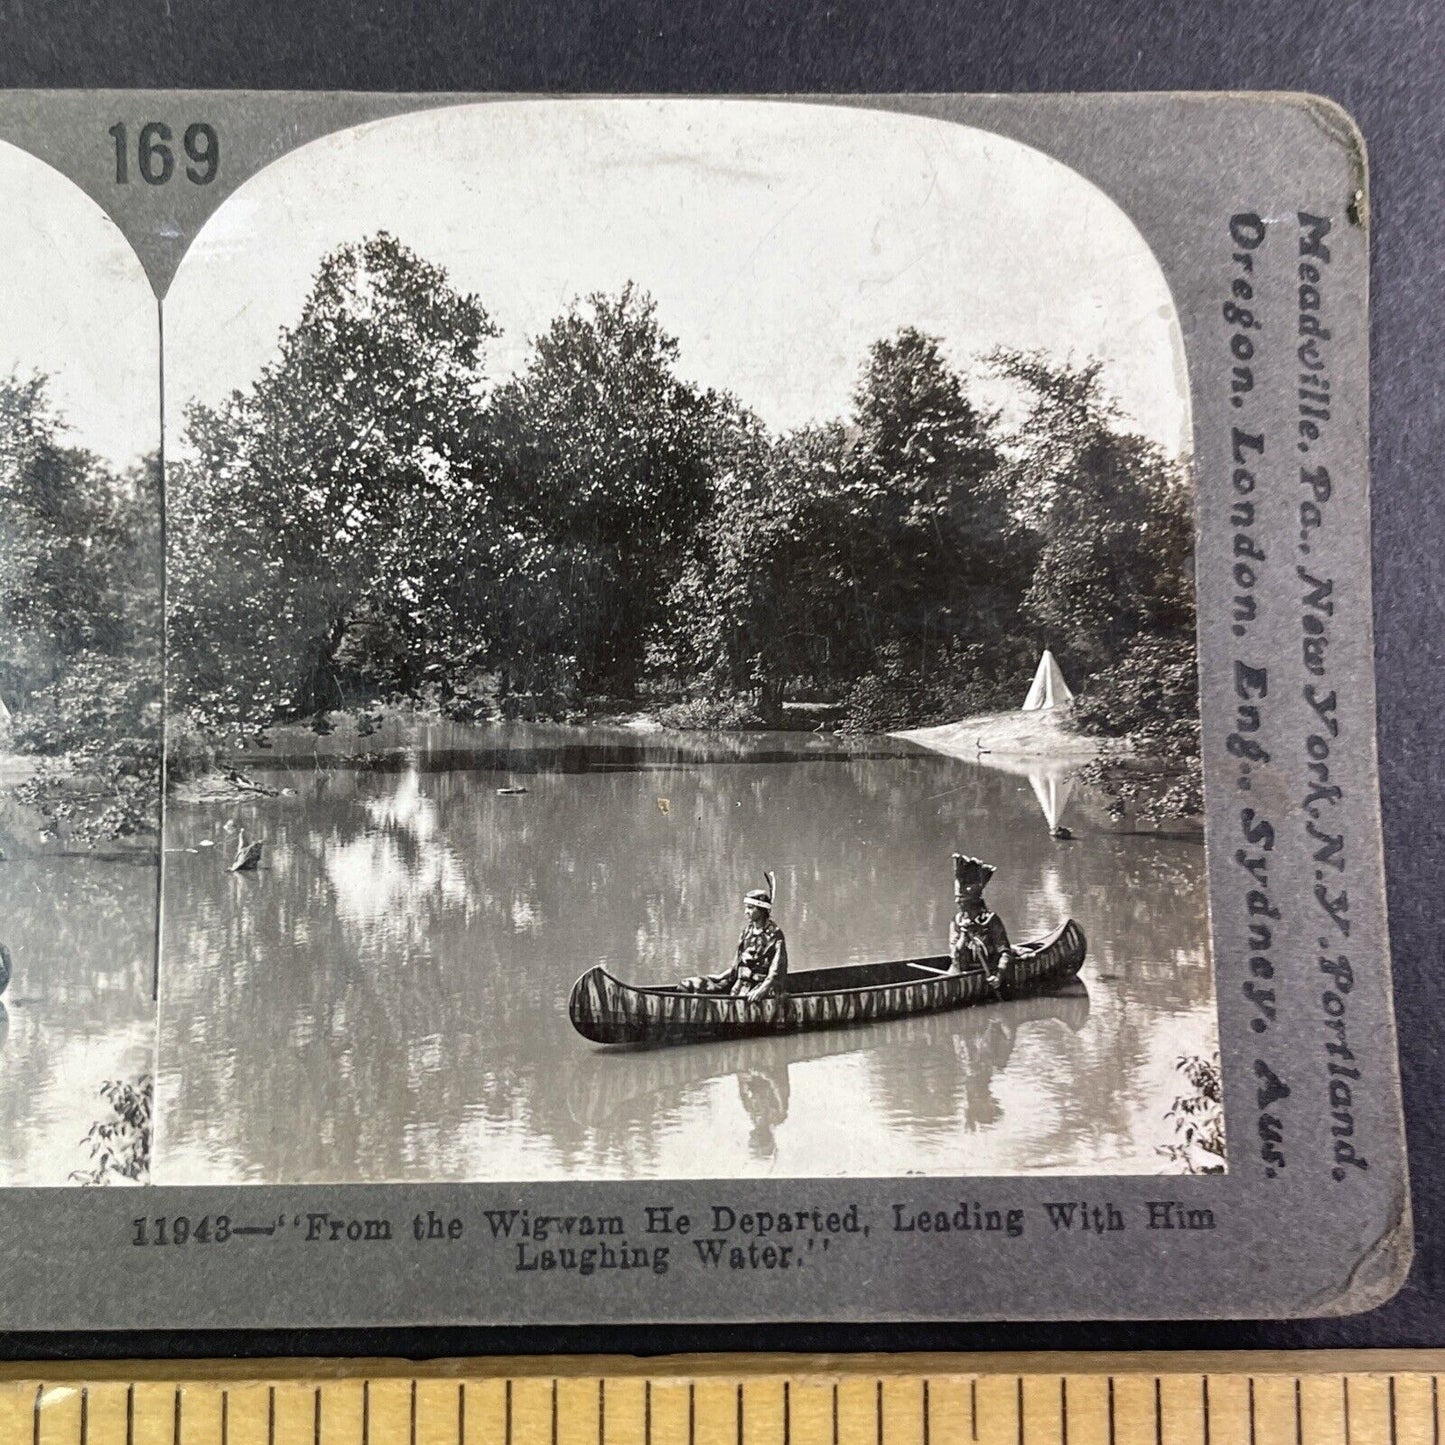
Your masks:
{"label": "dense foliage in the cropped left-hand photo", "polygon": [[150,834],[160,795],[160,471],[66,447],[43,377],[0,380],[0,738],[48,834]]}

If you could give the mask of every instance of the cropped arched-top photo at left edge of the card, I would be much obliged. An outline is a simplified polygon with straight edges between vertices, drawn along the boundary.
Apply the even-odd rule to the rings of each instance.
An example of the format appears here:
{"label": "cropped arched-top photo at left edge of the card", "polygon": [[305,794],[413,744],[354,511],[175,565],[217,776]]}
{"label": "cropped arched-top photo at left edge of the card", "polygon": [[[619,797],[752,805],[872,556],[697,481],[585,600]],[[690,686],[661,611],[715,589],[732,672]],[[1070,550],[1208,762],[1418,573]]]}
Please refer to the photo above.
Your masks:
{"label": "cropped arched-top photo at left edge of the card", "polygon": [[160,850],[156,298],[0,143],[0,1186],[150,1172]]}

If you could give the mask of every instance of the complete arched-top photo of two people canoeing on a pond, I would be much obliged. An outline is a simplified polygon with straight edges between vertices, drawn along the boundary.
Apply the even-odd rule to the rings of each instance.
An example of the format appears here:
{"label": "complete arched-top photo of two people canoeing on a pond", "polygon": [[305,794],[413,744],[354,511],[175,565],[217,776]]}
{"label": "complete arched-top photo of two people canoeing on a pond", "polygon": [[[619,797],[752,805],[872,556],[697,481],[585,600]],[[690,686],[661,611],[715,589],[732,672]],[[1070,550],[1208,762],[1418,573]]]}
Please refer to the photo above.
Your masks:
{"label": "complete arched-top photo of two people canoeing on a pond", "polygon": [[1088,179],[426,110],[240,185],[165,340],[155,1182],[1225,1168],[1183,340]]}

